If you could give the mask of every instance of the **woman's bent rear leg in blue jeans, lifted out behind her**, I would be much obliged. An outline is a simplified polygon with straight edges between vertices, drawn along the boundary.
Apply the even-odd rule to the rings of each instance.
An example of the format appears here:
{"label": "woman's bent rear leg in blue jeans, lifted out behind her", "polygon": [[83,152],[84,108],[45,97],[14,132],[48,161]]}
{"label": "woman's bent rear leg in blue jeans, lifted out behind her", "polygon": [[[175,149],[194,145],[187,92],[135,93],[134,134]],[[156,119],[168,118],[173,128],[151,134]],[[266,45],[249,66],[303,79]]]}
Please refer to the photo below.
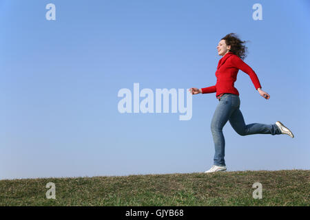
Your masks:
{"label": "woman's bent rear leg in blue jeans, lifted out behind her", "polygon": [[245,124],[240,109],[236,109],[229,118],[229,123],[239,135],[254,135],[256,133],[280,135],[281,131],[276,124]]}

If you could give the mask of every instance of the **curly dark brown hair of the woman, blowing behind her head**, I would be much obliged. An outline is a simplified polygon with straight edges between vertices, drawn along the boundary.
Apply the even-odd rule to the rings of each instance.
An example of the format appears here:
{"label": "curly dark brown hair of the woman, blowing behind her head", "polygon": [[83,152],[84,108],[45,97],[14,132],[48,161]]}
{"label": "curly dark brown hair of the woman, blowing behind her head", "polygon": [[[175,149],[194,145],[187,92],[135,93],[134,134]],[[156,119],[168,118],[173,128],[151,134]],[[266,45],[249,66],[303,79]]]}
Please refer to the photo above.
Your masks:
{"label": "curly dark brown hair of the woman, blowing behind her head", "polygon": [[230,45],[231,49],[229,52],[232,52],[233,54],[236,54],[239,56],[242,60],[247,56],[247,47],[245,46],[245,43],[247,41],[241,41],[237,34],[230,33],[223,37],[222,40],[225,40],[226,45]]}

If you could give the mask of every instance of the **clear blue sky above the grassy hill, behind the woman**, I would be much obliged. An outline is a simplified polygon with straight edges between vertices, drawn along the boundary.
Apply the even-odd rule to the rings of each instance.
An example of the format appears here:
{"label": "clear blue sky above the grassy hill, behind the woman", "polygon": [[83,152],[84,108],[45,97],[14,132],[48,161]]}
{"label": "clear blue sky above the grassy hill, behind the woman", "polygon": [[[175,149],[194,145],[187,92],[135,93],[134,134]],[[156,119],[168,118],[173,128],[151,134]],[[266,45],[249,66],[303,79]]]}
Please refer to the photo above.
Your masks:
{"label": "clear blue sky above the grassy hill, behind the woman", "polygon": [[0,179],[209,169],[215,94],[193,96],[187,121],[121,114],[117,94],[215,85],[216,45],[230,32],[250,41],[245,62],[271,96],[240,71],[245,122],[280,120],[296,137],[240,136],[228,122],[227,169],[309,169],[309,21],[302,0],[0,0]]}

